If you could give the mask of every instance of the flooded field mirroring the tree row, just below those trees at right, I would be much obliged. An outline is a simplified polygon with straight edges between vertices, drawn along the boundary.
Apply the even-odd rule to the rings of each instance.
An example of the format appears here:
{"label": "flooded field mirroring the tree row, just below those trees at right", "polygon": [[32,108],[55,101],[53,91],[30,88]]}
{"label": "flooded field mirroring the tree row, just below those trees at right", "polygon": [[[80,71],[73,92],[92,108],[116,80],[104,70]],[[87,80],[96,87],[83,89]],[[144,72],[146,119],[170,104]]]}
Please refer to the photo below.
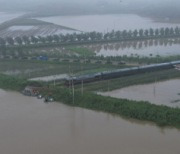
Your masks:
{"label": "flooded field mirroring the tree row, just below those trees at right", "polygon": [[180,38],[125,41],[104,44],[84,45],[97,56],[156,57],[173,56],[180,53]]}

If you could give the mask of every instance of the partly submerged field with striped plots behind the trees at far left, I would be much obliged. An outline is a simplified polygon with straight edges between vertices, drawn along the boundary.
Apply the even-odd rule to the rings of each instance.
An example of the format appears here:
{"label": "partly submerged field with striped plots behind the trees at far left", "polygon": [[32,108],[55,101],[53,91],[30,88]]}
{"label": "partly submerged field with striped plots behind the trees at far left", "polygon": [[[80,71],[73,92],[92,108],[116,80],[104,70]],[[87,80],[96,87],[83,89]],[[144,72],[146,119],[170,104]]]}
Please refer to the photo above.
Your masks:
{"label": "partly submerged field with striped plots behind the trees at far left", "polygon": [[[48,35],[60,35],[60,34],[72,34],[79,31],[56,25],[49,22],[43,22],[36,19],[31,19],[27,14],[19,17],[19,14],[14,14],[12,17],[0,14],[0,37],[22,37],[22,36],[48,36]],[[5,18],[5,19],[4,19]],[[8,22],[5,22],[8,21]],[[5,22],[5,23],[4,23]]]}

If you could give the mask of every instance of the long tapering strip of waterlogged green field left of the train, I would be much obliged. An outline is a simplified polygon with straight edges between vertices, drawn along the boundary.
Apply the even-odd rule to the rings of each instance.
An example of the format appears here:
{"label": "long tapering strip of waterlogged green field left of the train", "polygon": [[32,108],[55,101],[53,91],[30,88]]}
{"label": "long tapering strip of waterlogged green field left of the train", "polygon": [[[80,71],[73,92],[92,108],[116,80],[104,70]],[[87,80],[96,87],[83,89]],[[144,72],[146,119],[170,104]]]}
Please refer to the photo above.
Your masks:
{"label": "long tapering strip of waterlogged green field left of the train", "polygon": [[98,72],[101,70],[112,70],[124,66],[101,65],[101,64],[81,64],[56,61],[38,60],[1,60],[0,73],[23,77],[34,78],[57,74],[85,74],[87,72]]}

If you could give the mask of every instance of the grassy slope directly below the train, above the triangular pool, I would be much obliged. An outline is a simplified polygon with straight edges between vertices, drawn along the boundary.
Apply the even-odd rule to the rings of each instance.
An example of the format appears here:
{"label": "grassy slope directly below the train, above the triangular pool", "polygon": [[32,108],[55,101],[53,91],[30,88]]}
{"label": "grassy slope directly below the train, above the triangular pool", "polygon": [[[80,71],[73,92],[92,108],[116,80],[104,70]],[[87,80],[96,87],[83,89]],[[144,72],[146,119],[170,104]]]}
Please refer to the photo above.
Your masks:
{"label": "grassy slope directly below the train, above the triangular pool", "polygon": [[[85,91],[109,91],[132,85],[154,83],[174,78],[180,78],[180,71],[175,69],[155,71],[132,76],[125,76],[117,79],[102,80],[84,84]],[[81,89],[81,85],[75,86]]]}

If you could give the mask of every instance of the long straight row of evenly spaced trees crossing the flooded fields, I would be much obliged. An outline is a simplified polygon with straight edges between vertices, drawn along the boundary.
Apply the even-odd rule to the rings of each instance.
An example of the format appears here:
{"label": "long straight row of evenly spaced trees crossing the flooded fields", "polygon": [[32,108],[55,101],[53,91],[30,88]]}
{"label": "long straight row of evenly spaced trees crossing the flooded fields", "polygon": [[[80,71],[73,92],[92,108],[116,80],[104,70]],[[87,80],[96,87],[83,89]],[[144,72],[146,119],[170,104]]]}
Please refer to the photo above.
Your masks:
{"label": "long straight row of evenly spaced trees crossing the flooded fields", "polygon": [[135,40],[147,38],[160,38],[180,36],[180,28],[160,28],[160,29],[140,29],[140,30],[123,30],[111,31],[107,33],[88,32],[88,33],[73,33],[66,35],[49,35],[42,36],[23,36],[23,37],[7,37],[0,38],[0,46],[6,45],[30,45],[30,44],[48,44],[48,43],[75,43],[75,42],[92,42],[92,41],[113,41],[113,40]]}

